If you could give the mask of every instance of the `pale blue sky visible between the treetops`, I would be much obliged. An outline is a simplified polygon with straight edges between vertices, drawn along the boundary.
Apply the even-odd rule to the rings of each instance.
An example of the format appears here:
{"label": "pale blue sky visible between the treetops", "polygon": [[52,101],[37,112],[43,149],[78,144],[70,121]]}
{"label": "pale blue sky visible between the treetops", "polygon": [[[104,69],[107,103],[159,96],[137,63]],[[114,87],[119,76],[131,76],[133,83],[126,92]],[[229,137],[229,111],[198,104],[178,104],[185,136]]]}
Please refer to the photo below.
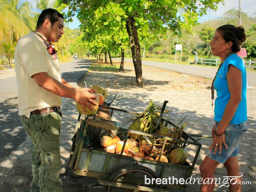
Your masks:
{"label": "pale blue sky visible between the treetops", "polygon": [[[40,12],[39,10],[36,10],[36,0],[20,0],[21,3],[24,1],[28,1],[32,4],[33,11]],[[201,23],[210,19],[219,18],[222,16],[222,14],[225,11],[228,11],[232,8],[235,8],[238,10],[239,0],[224,0],[224,4],[225,5],[223,5],[222,3],[219,3],[217,11],[208,11],[207,15],[203,15],[202,17],[199,18],[199,22]],[[255,7],[256,7],[256,0],[241,0],[241,9],[242,11],[247,13],[249,17],[253,16]],[[73,22],[68,23],[67,26],[71,29],[74,29],[74,28],[78,28],[79,25],[80,25],[80,22],[78,21],[76,16],[74,16]]]}

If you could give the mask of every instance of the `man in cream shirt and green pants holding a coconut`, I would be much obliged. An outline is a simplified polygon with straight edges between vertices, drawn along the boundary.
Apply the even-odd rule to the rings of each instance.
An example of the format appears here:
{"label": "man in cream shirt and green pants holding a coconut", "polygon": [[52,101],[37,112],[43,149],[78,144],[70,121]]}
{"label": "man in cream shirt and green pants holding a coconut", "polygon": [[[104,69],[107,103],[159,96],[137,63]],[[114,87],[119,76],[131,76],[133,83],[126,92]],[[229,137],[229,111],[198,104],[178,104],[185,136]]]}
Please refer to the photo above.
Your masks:
{"label": "man in cream shirt and green pants holding a coconut", "polygon": [[[59,59],[51,42],[63,35],[63,15],[54,9],[40,14],[36,30],[22,37],[15,48],[19,115],[34,148],[31,191],[62,191],[60,175],[61,97],[91,104],[93,90],[75,89],[61,77]],[[91,103],[91,104],[90,104]],[[85,108],[84,108],[85,111]]]}

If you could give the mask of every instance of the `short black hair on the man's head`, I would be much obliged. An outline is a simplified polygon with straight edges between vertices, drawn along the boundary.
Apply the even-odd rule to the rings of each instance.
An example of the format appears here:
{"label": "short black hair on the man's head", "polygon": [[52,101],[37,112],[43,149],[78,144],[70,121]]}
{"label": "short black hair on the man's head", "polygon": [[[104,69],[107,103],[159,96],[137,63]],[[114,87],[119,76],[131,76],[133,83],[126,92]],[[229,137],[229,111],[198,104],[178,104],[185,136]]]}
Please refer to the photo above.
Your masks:
{"label": "short black hair on the man's head", "polygon": [[42,26],[45,19],[49,19],[53,26],[54,23],[59,20],[58,17],[64,19],[63,15],[60,14],[57,10],[51,9],[51,8],[45,9],[44,11],[42,11],[42,13],[38,17],[36,28],[39,28],[40,26]]}

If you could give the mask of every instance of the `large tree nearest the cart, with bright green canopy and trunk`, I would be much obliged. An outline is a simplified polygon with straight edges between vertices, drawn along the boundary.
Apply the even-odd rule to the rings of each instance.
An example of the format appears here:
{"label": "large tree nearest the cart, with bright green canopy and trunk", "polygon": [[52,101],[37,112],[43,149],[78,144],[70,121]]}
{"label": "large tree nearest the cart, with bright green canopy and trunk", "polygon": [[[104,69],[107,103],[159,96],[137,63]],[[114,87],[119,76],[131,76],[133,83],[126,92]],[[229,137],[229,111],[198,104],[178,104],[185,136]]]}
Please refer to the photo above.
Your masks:
{"label": "large tree nearest the cart, with bright green canopy and trunk", "polygon": [[[216,10],[217,4],[222,0],[200,1],[200,8],[196,6],[196,0],[58,0],[58,2],[68,5],[68,17],[73,16],[75,12],[78,13],[82,21],[82,30],[88,26],[86,19],[96,14],[97,9],[103,10],[110,7],[112,3],[112,7],[120,10],[116,12],[115,23],[122,23],[126,27],[135,68],[136,85],[142,86],[139,32],[141,31],[145,36],[149,30],[152,30],[154,34],[165,34],[168,27],[174,34],[181,36],[181,29],[191,32],[192,26],[197,24],[198,12],[200,16],[203,16],[208,9]],[[113,12],[113,9],[104,10],[106,14]],[[100,18],[106,25],[108,24],[108,18]]]}

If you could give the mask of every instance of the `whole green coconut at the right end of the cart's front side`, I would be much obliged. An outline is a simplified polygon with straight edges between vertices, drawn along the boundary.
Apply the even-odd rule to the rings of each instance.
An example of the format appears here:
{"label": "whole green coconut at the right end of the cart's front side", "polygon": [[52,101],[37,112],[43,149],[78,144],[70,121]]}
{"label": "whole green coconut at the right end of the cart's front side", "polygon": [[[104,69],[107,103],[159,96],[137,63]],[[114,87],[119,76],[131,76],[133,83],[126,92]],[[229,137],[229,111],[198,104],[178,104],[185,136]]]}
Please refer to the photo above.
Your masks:
{"label": "whole green coconut at the right end of the cart's front side", "polygon": [[171,151],[169,161],[176,164],[186,163],[188,158],[188,151],[185,148],[179,147]]}

